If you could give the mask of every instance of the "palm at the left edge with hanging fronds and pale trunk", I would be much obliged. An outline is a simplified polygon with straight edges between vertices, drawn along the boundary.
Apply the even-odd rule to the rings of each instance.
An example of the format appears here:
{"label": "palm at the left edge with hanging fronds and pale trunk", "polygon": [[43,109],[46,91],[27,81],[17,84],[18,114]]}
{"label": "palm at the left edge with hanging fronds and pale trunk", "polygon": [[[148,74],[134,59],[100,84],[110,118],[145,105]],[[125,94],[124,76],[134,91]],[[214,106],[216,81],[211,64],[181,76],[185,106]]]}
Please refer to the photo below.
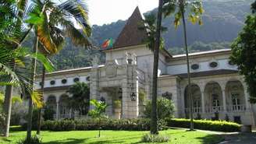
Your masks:
{"label": "palm at the left edge with hanging fronds and pale trunk", "polygon": [[[20,87],[21,93],[31,93],[30,86],[28,85],[29,79],[27,79],[29,72],[24,66],[27,65],[27,63],[25,63],[23,59],[26,57],[37,57],[37,55],[29,54],[27,51],[20,48],[20,37],[23,36],[23,26],[20,17],[23,13],[23,2],[25,1],[0,2],[0,6],[3,8],[0,10],[0,35],[2,36],[0,37],[0,65],[2,65],[1,78],[9,77],[9,79],[2,79],[2,85],[6,86],[4,102],[6,117],[4,135],[6,137],[9,136],[13,86]],[[41,57],[41,60],[43,59],[44,58]],[[44,59],[44,65],[46,63],[47,61]],[[35,94],[34,96],[38,96],[38,94]],[[37,98],[34,97],[34,100],[37,100]],[[35,104],[38,103],[36,102]]]}

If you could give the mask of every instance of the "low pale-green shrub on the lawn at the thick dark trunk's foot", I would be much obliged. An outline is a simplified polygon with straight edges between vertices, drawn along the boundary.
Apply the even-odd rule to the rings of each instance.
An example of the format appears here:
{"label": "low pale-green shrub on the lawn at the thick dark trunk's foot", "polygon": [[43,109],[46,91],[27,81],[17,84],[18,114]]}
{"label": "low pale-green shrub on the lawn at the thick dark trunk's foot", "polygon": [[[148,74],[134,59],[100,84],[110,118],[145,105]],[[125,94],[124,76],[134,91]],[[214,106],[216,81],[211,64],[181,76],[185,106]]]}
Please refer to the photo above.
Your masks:
{"label": "low pale-green shrub on the lawn at the thick dark trunk's foot", "polygon": [[165,135],[151,135],[150,133],[143,135],[141,142],[168,142],[169,137]]}

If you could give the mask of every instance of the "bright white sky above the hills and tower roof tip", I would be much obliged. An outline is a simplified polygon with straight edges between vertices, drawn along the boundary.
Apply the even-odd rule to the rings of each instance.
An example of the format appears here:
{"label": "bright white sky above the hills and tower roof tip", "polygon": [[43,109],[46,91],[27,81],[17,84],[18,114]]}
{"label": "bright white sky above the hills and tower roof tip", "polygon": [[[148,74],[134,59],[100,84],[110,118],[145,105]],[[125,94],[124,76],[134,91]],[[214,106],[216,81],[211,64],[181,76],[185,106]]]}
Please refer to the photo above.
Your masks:
{"label": "bright white sky above the hills and tower roof tip", "polygon": [[91,25],[99,26],[119,19],[128,19],[137,5],[141,13],[158,7],[158,0],[87,0],[86,2]]}

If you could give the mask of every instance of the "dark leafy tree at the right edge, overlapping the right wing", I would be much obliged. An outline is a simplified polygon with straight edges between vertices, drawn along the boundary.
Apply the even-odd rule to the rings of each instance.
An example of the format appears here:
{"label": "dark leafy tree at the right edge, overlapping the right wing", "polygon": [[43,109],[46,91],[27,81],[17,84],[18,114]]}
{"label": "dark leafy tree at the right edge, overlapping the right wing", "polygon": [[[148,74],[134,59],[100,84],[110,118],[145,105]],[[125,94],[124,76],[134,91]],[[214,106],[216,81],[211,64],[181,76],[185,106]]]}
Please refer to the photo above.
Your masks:
{"label": "dark leafy tree at the right edge, overlapping the right wing", "polygon": [[252,5],[253,13],[247,16],[244,29],[239,33],[231,45],[231,61],[238,66],[247,83],[251,104],[256,104],[256,2]]}

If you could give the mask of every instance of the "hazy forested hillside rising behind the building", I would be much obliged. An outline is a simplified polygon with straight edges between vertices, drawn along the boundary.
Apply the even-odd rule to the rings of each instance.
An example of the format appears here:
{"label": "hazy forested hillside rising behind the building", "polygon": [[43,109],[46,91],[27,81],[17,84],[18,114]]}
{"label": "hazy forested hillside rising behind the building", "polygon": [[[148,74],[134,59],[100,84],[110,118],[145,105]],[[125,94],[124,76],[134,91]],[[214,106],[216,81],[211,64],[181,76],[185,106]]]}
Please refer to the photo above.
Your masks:
{"label": "hazy forested hillside rising behind the building", "polygon": [[[244,18],[247,16],[247,12],[250,12],[252,2],[253,0],[204,1],[203,26],[187,24],[190,52],[228,48],[229,43],[237,37],[237,33],[242,29]],[[156,9],[151,12],[156,12]],[[163,25],[168,27],[168,31],[163,33],[165,48],[172,54],[182,54],[184,52],[181,48],[183,47],[183,31],[181,27],[177,30],[174,29],[172,17],[166,17],[162,21]],[[119,20],[108,25],[92,26],[92,42],[100,46],[107,38],[115,40],[125,23],[126,21]],[[58,70],[78,68],[91,65],[90,60],[94,54],[101,55],[101,62],[104,62],[104,54],[98,50],[74,47],[67,39],[66,46],[52,58],[52,61]]]}

